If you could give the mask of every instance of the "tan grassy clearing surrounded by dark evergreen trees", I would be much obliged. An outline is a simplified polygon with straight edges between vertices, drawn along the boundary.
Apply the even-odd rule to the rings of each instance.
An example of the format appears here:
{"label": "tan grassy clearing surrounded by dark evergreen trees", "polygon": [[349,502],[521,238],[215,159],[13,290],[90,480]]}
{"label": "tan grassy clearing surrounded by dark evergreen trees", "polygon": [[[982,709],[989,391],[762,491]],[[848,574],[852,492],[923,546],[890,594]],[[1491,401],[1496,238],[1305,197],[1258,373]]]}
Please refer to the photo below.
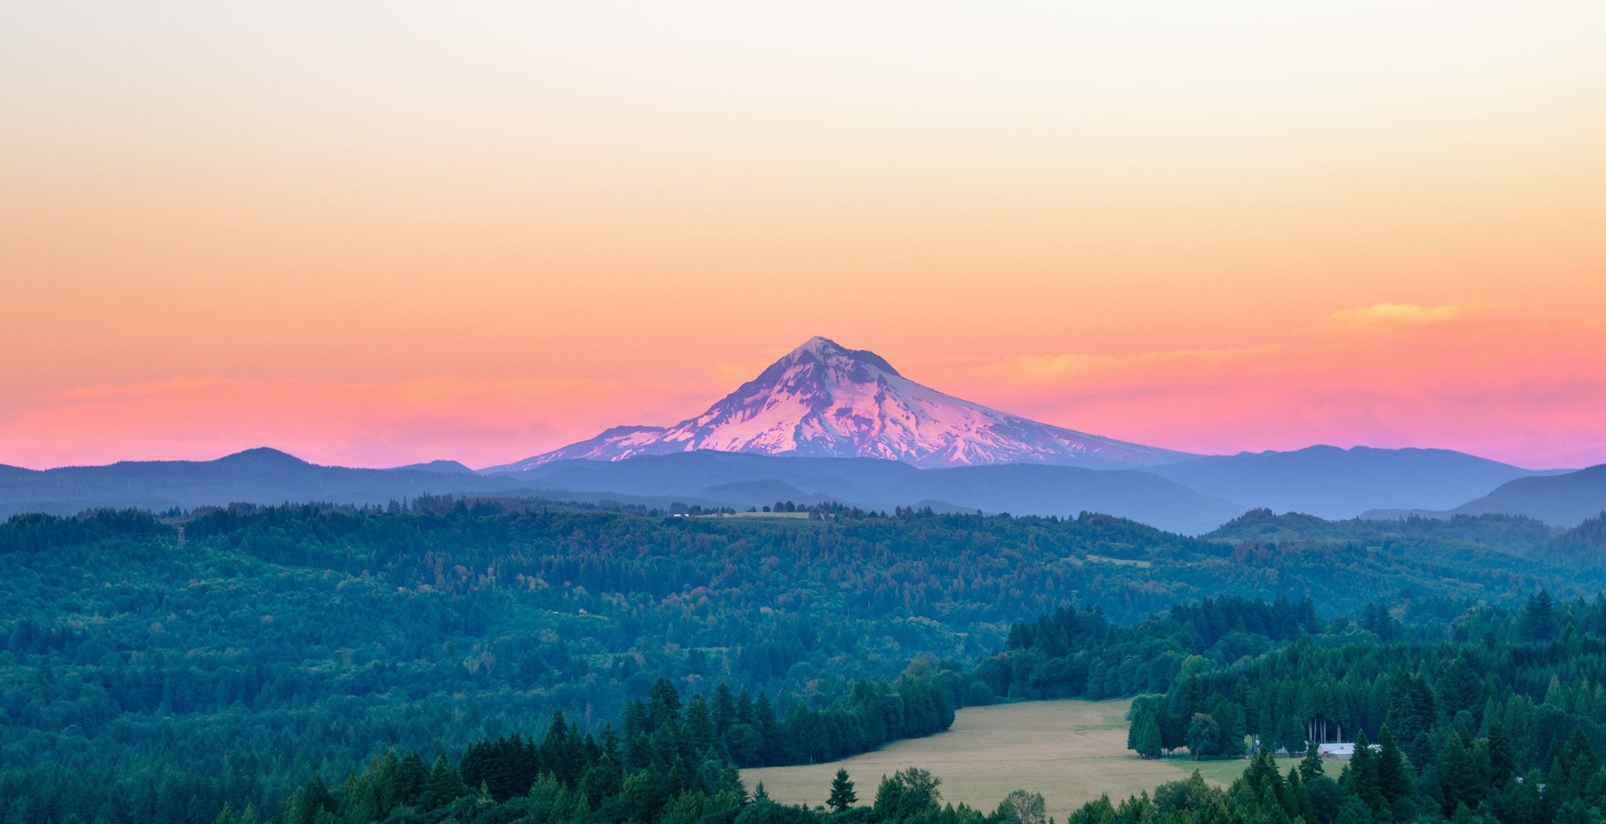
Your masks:
{"label": "tan grassy clearing surrounded by dark evergreen trees", "polygon": [[[943,779],[943,800],[967,803],[991,813],[1010,790],[1041,792],[1047,813],[1058,821],[1103,793],[1110,800],[1153,790],[1187,777],[1195,766],[1206,779],[1225,785],[1248,766],[1245,760],[1203,761],[1187,758],[1147,761],[1126,749],[1126,710],[1131,699],[1037,700],[965,707],[948,732],[898,740],[825,765],[744,769],[752,792],[760,781],[771,798],[808,806],[825,803],[837,769],[853,777],[859,803],[875,800],[883,774],[919,766]],[[1286,771],[1288,765],[1280,763]]]}

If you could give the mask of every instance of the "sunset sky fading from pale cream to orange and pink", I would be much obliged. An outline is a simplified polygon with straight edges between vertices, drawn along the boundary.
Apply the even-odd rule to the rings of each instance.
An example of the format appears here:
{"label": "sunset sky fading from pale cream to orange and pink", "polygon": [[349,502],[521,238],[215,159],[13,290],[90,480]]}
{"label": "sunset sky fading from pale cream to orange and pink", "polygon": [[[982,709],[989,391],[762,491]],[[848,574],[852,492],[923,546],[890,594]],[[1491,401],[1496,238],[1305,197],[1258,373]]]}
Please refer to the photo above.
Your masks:
{"label": "sunset sky fading from pale cream to orange and pink", "polygon": [[480,467],[814,334],[1195,453],[1606,463],[1601,3],[0,5],[0,463]]}

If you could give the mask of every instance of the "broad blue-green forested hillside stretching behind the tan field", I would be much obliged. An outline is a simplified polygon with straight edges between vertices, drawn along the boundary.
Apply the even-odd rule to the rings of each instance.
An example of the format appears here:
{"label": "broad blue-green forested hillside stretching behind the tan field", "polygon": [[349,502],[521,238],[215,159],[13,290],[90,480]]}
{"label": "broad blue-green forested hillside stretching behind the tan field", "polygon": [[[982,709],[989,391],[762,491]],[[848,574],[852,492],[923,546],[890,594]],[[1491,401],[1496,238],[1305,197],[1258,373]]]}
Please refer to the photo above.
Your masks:
{"label": "broad blue-green forested hillside stretching behind the tan field", "polygon": [[[538,736],[554,710],[594,732],[658,678],[683,696],[764,692],[781,716],[907,670],[957,705],[1012,623],[1071,604],[1115,623],[1214,593],[1359,615],[1384,596],[1600,583],[1431,538],[1219,543],[1095,514],[642,517],[450,498],[19,516],[0,556],[0,797],[127,798],[109,821],[140,822],[162,798],[283,798],[389,747],[456,760],[474,740]],[[1119,663],[1119,642],[1099,649]],[[1031,678],[1012,671],[994,694],[1041,689]],[[210,821],[196,803],[180,819]]]}

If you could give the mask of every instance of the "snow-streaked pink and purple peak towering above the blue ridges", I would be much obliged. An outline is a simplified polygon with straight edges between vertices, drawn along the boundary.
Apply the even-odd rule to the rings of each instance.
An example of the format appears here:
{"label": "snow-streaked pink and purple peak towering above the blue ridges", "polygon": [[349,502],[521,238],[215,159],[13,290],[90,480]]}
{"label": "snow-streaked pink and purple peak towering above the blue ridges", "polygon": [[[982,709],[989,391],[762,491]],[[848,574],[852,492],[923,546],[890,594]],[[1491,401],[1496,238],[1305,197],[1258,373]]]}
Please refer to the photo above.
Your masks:
{"label": "snow-streaked pink and purple peak towering above the blue ridges", "polygon": [[809,337],[697,418],[671,427],[613,427],[480,472],[691,450],[883,458],[928,469],[1005,463],[1135,467],[1193,458],[989,410],[923,387],[874,352]]}

